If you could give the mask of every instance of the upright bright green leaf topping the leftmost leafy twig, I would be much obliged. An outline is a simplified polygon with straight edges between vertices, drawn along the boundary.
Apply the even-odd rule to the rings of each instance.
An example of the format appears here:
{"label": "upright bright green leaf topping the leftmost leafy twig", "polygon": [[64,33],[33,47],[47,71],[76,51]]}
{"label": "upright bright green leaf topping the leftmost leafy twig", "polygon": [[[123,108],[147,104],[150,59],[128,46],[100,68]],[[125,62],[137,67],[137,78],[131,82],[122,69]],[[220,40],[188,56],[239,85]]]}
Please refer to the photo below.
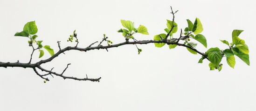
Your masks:
{"label": "upright bright green leaf topping the leftmost leafy twig", "polygon": [[26,25],[24,25],[23,31],[26,31],[31,35],[36,34],[37,26],[35,25],[35,21],[28,22]]}

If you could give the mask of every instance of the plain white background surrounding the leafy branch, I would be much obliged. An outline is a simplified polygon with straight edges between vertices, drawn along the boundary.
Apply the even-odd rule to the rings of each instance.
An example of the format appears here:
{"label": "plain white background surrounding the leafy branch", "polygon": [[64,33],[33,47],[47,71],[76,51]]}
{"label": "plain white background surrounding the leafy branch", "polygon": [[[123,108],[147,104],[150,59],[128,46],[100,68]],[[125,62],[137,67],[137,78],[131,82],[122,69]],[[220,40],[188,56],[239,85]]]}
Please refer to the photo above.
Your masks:
{"label": "plain white background surrounding the leafy branch", "polygon": [[[186,19],[201,19],[203,35],[211,47],[227,46],[234,29],[244,30],[240,38],[249,46],[250,66],[236,57],[235,69],[222,59],[221,72],[210,71],[208,61],[197,63],[184,47],[156,48],[134,45],[89,52],[69,51],[43,67],[65,75],[98,78],[100,82],[63,80],[49,77],[43,83],[30,68],[0,68],[0,111],[256,111],[256,52],[254,0],[0,0],[0,62],[28,62],[28,38],[14,37],[29,21],[36,21],[42,44],[58,51],[75,46],[66,42],[74,30],[79,47],[102,40],[105,33],[114,43],[124,42],[120,19],[135,26],[145,25],[149,40],[164,33],[170,6],[179,10],[175,21],[179,31]],[[200,43],[198,49],[205,52]],[[32,62],[39,61],[35,52]],[[47,59],[46,52],[41,59]]]}

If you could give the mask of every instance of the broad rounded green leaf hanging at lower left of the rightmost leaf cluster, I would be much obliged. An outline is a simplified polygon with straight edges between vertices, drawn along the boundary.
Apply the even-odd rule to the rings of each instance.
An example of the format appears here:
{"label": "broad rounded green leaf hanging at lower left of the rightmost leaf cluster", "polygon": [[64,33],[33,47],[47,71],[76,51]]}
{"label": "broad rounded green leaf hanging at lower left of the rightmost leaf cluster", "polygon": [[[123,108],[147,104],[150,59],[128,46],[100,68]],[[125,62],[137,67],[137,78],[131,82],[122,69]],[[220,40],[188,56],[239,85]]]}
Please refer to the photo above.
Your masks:
{"label": "broad rounded green leaf hanging at lower left of the rightmost leaf cluster", "polygon": [[210,62],[214,64],[220,64],[222,55],[219,48],[208,49],[206,55],[208,55],[208,59]]}

